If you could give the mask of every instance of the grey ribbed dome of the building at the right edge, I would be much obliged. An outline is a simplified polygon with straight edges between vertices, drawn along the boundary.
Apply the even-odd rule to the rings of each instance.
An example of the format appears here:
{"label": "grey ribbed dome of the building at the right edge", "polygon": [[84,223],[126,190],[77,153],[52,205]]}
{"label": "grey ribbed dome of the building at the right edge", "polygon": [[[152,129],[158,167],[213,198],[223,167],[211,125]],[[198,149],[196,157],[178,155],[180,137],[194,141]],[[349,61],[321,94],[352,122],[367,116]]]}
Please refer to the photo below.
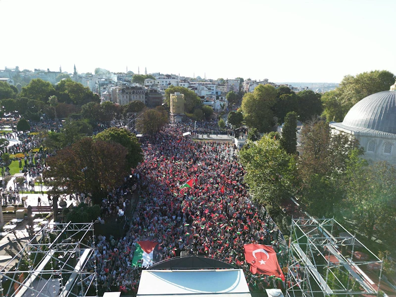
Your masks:
{"label": "grey ribbed dome of the building at the right edge", "polygon": [[396,91],[379,92],[361,99],[348,111],[342,124],[396,134]]}

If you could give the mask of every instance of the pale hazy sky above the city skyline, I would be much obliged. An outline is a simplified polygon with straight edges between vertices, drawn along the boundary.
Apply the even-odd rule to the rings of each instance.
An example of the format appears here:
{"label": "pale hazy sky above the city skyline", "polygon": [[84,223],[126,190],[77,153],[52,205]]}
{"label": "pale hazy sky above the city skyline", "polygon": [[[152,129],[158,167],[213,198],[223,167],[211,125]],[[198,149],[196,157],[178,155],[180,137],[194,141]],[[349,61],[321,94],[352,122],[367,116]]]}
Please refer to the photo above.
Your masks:
{"label": "pale hazy sky above the city skyline", "polygon": [[0,0],[0,69],[272,82],[396,73],[396,0]]}

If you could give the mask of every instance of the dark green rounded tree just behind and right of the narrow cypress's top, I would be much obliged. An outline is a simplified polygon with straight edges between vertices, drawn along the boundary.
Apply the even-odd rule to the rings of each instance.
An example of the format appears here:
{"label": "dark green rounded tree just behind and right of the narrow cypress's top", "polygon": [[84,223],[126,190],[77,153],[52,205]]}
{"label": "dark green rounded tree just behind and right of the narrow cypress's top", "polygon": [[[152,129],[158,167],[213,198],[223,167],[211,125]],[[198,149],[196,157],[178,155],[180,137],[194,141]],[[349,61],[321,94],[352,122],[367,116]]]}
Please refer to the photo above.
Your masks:
{"label": "dark green rounded tree just behind and right of the narrow cypress's top", "polygon": [[298,115],[301,122],[311,119],[322,113],[321,95],[305,90],[297,93]]}

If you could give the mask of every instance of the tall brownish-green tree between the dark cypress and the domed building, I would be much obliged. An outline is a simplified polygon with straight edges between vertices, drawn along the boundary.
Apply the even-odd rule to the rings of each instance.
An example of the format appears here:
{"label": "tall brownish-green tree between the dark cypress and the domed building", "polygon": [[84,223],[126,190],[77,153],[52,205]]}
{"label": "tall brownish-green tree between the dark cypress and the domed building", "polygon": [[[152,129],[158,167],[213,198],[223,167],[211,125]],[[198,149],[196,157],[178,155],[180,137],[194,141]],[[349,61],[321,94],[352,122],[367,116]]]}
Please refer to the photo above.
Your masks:
{"label": "tall brownish-green tree between the dark cypress and the domed building", "polygon": [[331,216],[334,206],[344,197],[341,185],[348,160],[362,150],[353,136],[342,132],[332,134],[329,124],[320,120],[303,126],[301,142],[304,153],[298,159],[300,200],[311,215]]}

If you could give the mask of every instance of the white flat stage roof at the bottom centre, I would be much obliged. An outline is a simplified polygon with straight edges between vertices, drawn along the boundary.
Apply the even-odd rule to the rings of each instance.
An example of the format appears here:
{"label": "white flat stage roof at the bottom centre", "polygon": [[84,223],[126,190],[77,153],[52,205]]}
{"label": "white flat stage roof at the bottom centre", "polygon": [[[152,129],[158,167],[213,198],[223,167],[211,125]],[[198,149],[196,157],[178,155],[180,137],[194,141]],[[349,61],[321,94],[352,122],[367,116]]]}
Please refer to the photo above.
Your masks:
{"label": "white flat stage roof at the bottom centre", "polygon": [[242,269],[143,270],[137,297],[250,297]]}

